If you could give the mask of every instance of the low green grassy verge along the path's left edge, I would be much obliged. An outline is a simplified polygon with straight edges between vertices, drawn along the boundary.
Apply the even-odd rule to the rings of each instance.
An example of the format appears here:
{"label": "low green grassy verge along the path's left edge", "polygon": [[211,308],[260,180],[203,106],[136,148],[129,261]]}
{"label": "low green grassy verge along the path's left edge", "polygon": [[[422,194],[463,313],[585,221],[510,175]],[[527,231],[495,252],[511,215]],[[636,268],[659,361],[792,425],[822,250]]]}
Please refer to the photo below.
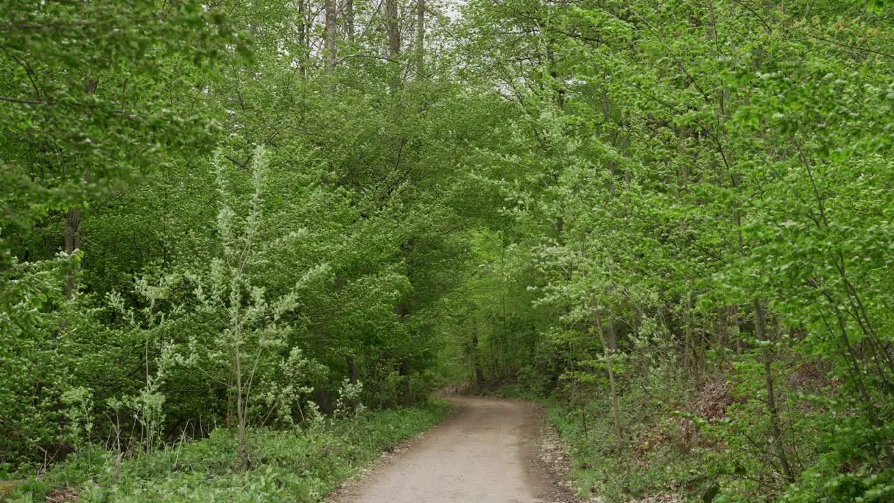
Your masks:
{"label": "low green grassy verge along the path's left edge", "polygon": [[235,439],[223,429],[123,461],[105,450],[85,450],[26,483],[16,501],[65,501],[75,494],[81,503],[319,501],[383,451],[449,413],[450,405],[434,401],[309,430],[254,430],[248,471],[238,468]]}

